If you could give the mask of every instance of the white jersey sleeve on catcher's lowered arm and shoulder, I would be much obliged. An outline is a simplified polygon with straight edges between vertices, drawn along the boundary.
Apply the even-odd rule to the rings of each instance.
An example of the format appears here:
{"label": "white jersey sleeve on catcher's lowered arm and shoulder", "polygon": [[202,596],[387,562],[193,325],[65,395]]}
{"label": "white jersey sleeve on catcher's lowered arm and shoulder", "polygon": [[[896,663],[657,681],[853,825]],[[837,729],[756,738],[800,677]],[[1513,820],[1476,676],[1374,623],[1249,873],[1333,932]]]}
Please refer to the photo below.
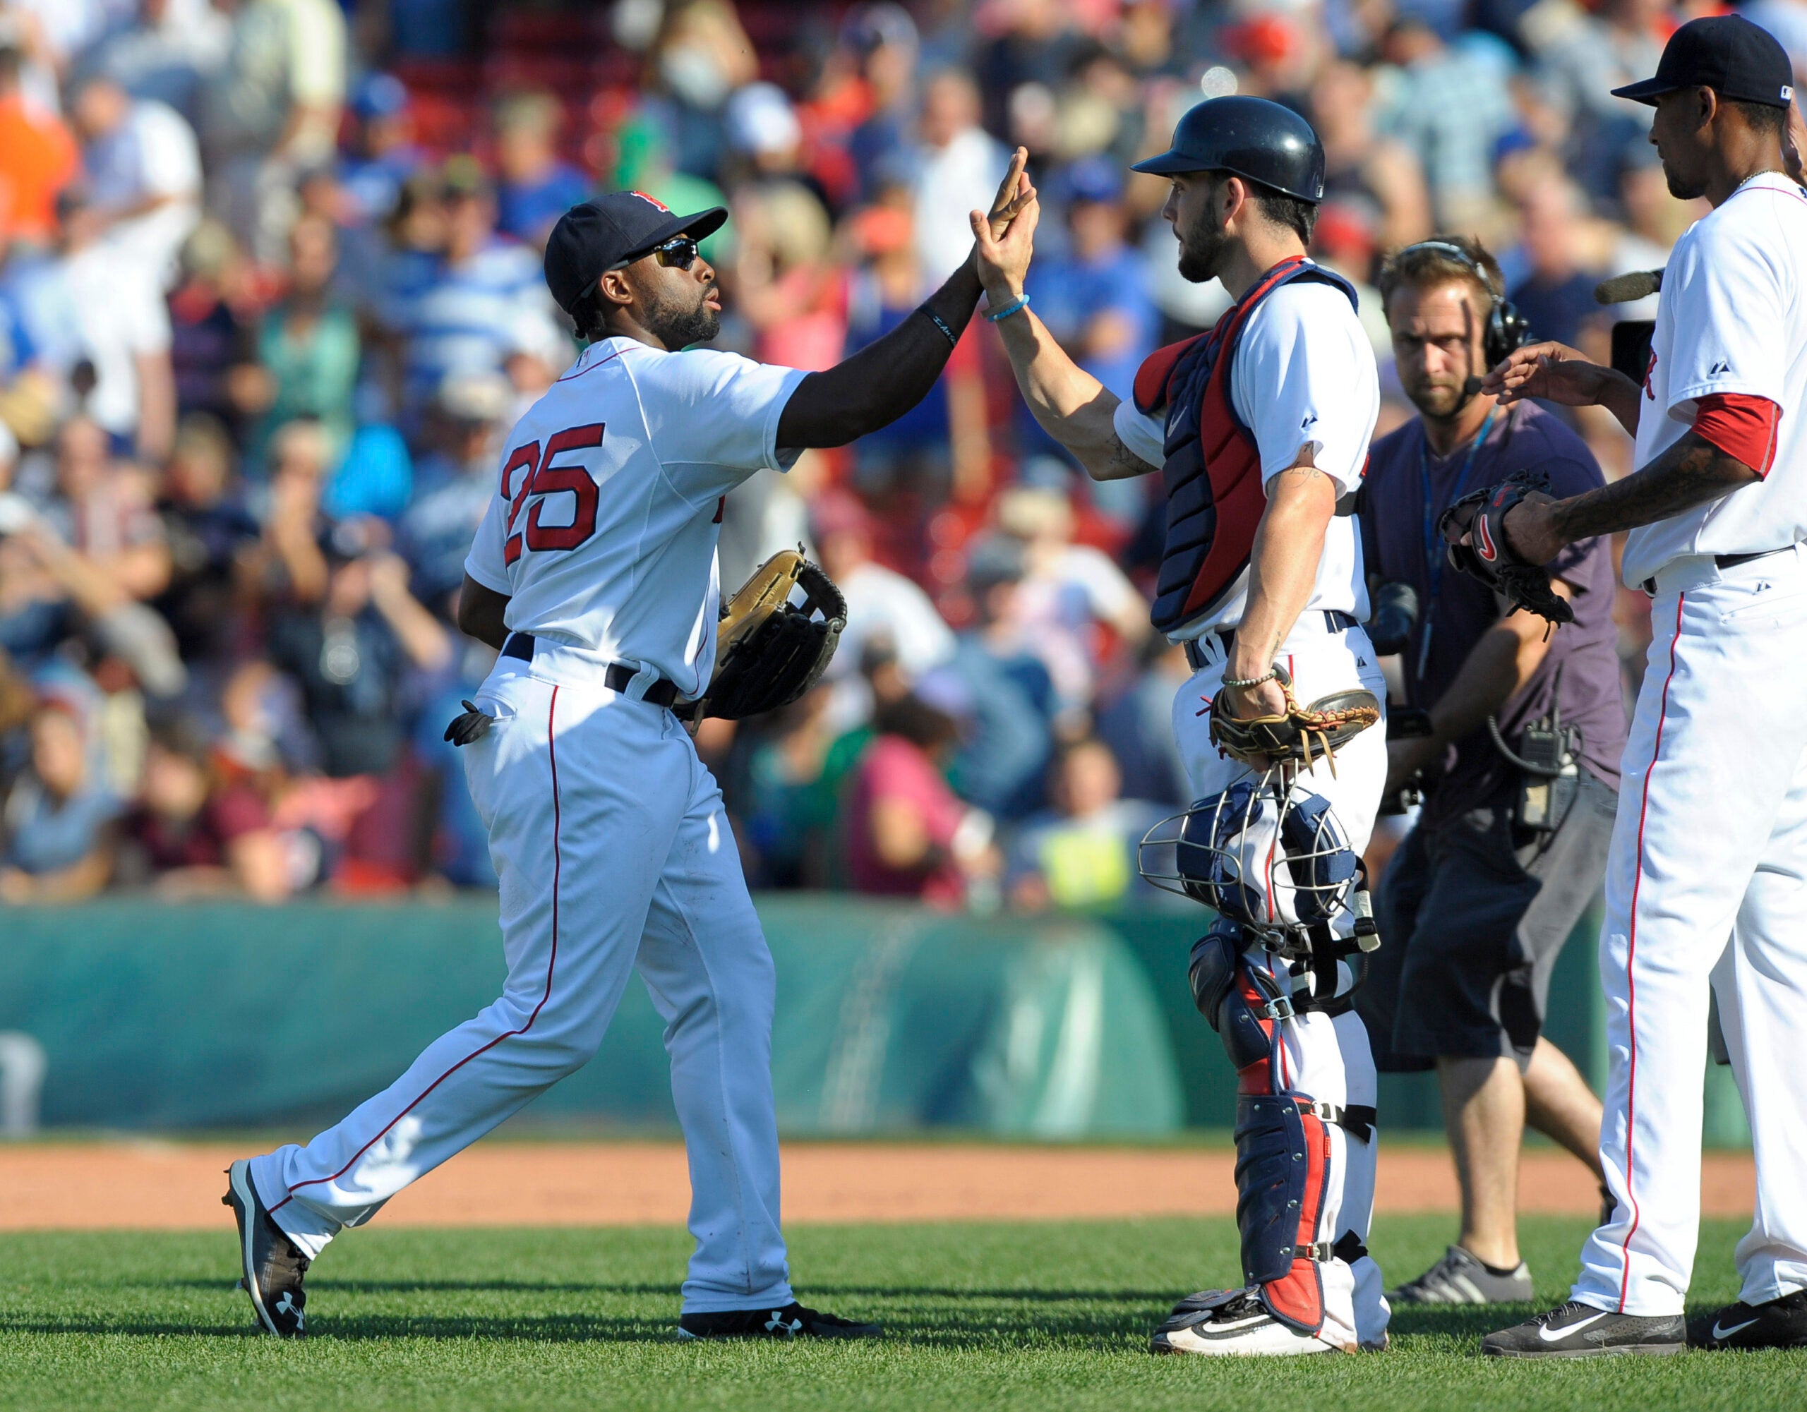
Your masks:
{"label": "white jersey sleeve on catcher's lowered arm and shoulder", "polygon": [[1319,280],[1269,294],[1236,345],[1231,404],[1261,448],[1263,484],[1310,446],[1341,495],[1361,486],[1381,385],[1348,294]]}

